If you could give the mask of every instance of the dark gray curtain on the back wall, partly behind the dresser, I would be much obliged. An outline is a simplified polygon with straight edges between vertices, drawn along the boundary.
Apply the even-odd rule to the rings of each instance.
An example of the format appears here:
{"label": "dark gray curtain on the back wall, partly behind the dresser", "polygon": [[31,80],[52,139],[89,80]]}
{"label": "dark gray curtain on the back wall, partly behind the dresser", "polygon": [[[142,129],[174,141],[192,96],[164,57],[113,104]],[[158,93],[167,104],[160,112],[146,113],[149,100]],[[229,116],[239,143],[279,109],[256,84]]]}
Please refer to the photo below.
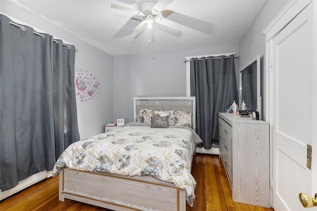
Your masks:
{"label": "dark gray curtain on the back wall, partly behind the dresser", "polygon": [[192,58],[190,61],[191,96],[196,97],[196,129],[203,143],[199,147],[211,149],[218,141],[218,113],[235,100],[238,104],[234,55]]}

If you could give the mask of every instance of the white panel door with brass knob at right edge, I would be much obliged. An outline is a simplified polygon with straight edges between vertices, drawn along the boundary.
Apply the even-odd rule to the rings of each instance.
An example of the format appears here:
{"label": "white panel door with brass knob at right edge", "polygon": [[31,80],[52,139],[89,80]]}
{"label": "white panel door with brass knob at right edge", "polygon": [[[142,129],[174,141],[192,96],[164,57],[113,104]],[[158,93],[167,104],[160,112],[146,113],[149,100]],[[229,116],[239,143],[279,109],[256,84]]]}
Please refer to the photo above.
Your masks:
{"label": "white panel door with brass knob at right edge", "polygon": [[[306,163],[307,145],[317,146],[317,70],[313,69],[316,58],[313,58],[312,4],[271,42],[272,198],[275,211],[304,210],[299,203],[299,193],[313,196],[313,190],[317,189],[312,187],[316,171],[308,169]],[[313,148],[313,156],[317,155],[316,150]],[[316,167],[313,163],[312,168]]]}

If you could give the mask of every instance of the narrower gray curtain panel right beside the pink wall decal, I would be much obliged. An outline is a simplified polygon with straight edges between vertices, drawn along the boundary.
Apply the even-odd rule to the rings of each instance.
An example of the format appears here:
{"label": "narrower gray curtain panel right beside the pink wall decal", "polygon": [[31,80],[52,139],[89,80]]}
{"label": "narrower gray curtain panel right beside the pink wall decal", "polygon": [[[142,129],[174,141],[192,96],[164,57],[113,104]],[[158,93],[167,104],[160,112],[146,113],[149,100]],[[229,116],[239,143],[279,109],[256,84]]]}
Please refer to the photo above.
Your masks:
{"label": "narrower gray curtain panel right beside the pink wall decal", "polygon": [[[51,42],[53,43],[53,42]],[[55,159],[71,143],[79,140],[75,96],[75,47],[53,43],[53,116]]]}

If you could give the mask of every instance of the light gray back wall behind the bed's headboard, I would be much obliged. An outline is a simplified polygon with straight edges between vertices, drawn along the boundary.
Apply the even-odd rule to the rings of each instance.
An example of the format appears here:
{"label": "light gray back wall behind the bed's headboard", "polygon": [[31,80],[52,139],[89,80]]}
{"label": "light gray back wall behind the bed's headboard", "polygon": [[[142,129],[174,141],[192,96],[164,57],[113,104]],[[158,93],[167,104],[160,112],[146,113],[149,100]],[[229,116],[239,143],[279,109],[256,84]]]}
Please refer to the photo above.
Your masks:
{"label": "light gray back wall behind the bed's headboard", "polygon": [[238,44],[114,56],[113,121],[133,122],[133,97],[186,96],[185,57],[229,52],[238,52]]}

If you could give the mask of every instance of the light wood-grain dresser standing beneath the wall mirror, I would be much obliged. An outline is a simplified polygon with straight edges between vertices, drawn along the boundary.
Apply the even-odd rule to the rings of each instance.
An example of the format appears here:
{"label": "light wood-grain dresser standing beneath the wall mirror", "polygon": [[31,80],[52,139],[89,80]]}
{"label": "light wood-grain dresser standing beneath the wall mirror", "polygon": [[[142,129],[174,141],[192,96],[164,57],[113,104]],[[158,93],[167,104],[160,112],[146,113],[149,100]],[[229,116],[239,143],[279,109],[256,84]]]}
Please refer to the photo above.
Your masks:
{"label": "light wood-grain dresser standing beneath the wall mirror", "polygon": [[219,113],[219,156],[234,202],[270,207],[269,125]]}

